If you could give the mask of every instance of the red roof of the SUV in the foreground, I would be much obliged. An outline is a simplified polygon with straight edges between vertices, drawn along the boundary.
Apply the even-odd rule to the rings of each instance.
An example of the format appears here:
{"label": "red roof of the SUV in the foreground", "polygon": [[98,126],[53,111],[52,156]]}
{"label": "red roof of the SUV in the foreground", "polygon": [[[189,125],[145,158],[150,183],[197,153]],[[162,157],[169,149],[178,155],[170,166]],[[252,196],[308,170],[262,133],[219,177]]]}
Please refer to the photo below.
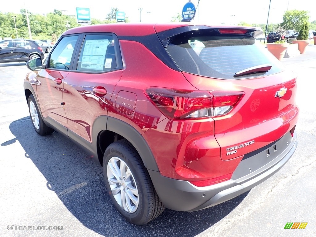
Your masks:
{"label": "red roof of the SUV in the foreground", "polygon": [[261,30],[260,27],[245,27],[245,26],[213,26],[209,24],[193,23],[193,22],[170,22],[170,23],[111,23],[100,25],[88,25],[69,29],[63,35],[76,33],[94,33],[94,32],[112,32],[118,36],[144,36],[153,33],[159,33],[165,30],[184,26],[207,26],[220,28],[243,28]]}

